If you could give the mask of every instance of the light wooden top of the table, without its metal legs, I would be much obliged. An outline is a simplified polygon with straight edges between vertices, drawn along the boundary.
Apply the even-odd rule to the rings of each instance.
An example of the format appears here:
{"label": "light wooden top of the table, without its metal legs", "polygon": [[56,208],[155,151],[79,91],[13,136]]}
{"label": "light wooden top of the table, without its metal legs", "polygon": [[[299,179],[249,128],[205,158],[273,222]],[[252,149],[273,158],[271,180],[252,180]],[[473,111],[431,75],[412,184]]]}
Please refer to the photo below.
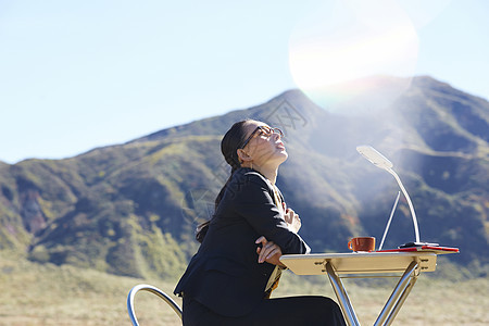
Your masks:
{"label": "light wooden top of the table, without its metal legs", "polygon": [[412,261],[417,261],[419,272],[434,272],[437,254],[416,252],[349,252],[285,254],[280,258],[297,275],[327,274],[325,265],[330,262],[338,274],[402,273]]}

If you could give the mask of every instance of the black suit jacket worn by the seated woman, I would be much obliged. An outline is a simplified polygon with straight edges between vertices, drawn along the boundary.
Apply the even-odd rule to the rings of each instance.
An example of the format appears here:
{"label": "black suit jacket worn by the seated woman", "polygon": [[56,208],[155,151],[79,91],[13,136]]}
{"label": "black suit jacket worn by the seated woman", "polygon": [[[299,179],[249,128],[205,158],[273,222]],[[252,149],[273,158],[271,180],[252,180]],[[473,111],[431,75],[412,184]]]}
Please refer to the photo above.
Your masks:
{"label": "black suit jacket worn by the seated woman", "polygon": [[287,227],[268,180],[239,168],[226,187],[208,234],[175,288],[225,316],[250,313],[264,297],[275,268],[258,263],[254,241],[265,236],[283,253],[306,253],[308,244]]}

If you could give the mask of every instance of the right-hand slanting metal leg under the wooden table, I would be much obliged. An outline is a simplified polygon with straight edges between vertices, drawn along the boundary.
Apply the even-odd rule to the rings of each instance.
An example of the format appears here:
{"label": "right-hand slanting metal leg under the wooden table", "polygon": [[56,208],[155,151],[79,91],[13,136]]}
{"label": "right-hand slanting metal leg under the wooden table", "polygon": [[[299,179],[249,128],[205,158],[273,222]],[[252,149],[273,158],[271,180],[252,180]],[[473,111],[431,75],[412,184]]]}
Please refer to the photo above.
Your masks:
{"label": "right-hand slanting metal leg under the wooden table", "polygon": [[408,268],[405,268],[404,274],[401,276],[401,279],[399,279],[398,285],[393,289],[392,294],[390,294],[389,300],[387,300],[386,305],[384,305],[384,309],[378,315],[374,326],[387,326],[392,323],[393,318],[408,298],[408,294],[411,292],[414,284],[416,283],[417,276],[414,275],[417,263],[413,261]]}

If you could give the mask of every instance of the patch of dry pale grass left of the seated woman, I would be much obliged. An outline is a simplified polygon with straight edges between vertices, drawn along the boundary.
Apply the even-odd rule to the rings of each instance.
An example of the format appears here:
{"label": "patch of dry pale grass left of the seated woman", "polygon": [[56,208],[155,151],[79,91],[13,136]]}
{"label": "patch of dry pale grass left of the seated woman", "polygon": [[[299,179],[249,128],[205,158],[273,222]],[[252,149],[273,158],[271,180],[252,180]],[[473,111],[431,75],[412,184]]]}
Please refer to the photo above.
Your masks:
{"label": "patch of dry pale grass left of the seated woman", "polygon": [[[126,298],[141,283],[171,292],[172,281],[120,277],[73,266],[0,258],[0,325],[128,325]],[[153,294],[136,297],[141,325],[178,325]]]}

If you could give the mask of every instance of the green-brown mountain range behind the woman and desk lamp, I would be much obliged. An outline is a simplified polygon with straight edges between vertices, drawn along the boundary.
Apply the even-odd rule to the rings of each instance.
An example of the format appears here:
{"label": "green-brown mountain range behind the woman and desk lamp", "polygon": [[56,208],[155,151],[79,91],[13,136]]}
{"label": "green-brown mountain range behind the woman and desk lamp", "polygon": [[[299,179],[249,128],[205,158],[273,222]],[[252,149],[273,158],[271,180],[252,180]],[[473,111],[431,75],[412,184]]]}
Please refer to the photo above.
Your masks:
{"label": "green-brown mountain range behind the woman and desk lamp", "polygon": [[[0,250],[118,275],[181,273],[198,248],[195,228],[212,215],[229,174],[221,138],[248,117],[286,134],[289,159],[278,186],[301,215],[313,252],[347,251],[352,236],[381,239],[398,185],[358,154],[365,143],[394,164],[421,240],[459,247],[450,260],[485,273],[489,103],[427,76],[414,77],[396,102],[372,114],[330,113],[290,90],[71,159],[0,162]],[[401,197],[384,248],[412,240]]]}

